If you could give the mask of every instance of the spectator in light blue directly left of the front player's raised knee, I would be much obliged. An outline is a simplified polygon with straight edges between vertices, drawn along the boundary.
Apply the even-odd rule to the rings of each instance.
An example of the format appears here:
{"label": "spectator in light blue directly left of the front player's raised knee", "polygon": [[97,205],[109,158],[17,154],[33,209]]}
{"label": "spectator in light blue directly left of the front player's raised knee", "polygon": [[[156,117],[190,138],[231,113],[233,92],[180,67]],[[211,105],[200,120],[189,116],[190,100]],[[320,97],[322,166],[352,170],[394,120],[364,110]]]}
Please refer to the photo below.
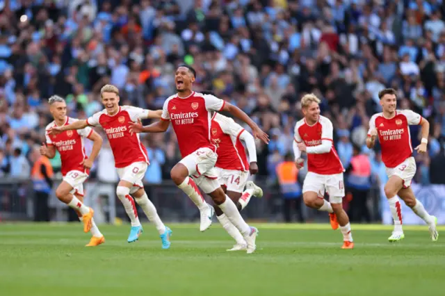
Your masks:
{"label": "spectator in light blue directly left of the front player's raised knee", "polygon": [[159,137],[153,137],[148,140],[147,154],[150,165],[145,173],[145,181],[151,184],[159,184],[162,182],[162,165],[165,163],[165,153],[163,149],[157,146],[158,143],[163,142],[162,139],[156,140]]}

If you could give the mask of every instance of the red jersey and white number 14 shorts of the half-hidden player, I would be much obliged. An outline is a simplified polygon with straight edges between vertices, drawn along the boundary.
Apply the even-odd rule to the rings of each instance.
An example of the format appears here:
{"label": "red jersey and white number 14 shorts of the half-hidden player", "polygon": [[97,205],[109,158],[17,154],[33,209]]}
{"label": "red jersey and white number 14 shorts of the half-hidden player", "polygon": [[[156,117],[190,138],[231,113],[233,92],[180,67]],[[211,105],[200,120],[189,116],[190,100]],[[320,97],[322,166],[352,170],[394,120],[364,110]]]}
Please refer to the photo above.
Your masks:
{"label": "red jersey and white number 14 shorts of the half-hidden player", "polygon": [[225,186],[227,191],[243,192],[249,178],[250,163],[241,141],[245,142],[249,151],[250,162],[256,162],[253,136],[232,118],[215,113],[211,121],[211,140],[218,148],[215,166],[220,185]]}

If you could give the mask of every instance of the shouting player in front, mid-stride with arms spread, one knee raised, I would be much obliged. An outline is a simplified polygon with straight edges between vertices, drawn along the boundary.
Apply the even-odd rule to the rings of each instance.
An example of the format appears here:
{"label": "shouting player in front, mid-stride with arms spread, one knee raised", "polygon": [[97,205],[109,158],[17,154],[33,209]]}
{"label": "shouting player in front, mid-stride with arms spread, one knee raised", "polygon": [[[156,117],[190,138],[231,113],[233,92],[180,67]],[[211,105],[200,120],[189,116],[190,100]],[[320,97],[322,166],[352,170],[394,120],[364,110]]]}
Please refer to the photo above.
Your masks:
{"label": "shouting player in front, mid-stride with arms spread, one knee raised", "polygon": [[192,67],[178,67],[175,74],[177,94],[165,100],[161,120],[149,126],[130,124],[131,131],[162,133],[167,131],[172,122],[183,158],[172,168],[170,175],[175,184],[200,209],[200,230],[204,231],[210,227],[214,211],[213,207],[205,202],[197,186],[211,196],[213,202],[241,232],[248,245],[247,253],[251,254],[256,248],[258,230],[243,220],[232,199],[225,195],[218,183],[218,172],[215,170],[217,147],[211,142],[211,112],[224,110],[232,113],[249,124],[254,135],[266,143],[269,141],[268,135],[239,108],[211,94],[194,92],[191,88],[195,76],[196,72]]}

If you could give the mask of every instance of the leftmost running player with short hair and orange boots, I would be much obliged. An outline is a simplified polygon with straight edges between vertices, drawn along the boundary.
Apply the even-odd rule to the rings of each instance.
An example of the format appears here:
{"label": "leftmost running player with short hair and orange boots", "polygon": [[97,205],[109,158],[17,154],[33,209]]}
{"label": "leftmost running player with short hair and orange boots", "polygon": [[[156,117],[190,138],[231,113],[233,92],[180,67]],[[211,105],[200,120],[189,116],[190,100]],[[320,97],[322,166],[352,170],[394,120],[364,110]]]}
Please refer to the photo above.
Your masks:
{"label": "leftmost running player with short hair and orange boots", "polygon": [[[49,98],[49,112],[54,121],[47,125],[46,131],[53,126],[66,126],[78,120],[67,117],[67,104],[59,96]],[[92,208],[83,204],[83,182],[88,178],[92,163],[102,147],[102,138],[90,127],[77,131],[64,131],[58,135],[45,135],[47,142],[40,147],[40,154],[47,158],[56,156],[56,149],[62,161],[63,181],[56,189],[56,197],[76,211],[83,221],[83,231],[91,231],[92,238],[87,247],[95,247],[105,242],[105,238],[97,228],[92,215]],[[90,157],[85,154],[85,139],[93,141]]]}

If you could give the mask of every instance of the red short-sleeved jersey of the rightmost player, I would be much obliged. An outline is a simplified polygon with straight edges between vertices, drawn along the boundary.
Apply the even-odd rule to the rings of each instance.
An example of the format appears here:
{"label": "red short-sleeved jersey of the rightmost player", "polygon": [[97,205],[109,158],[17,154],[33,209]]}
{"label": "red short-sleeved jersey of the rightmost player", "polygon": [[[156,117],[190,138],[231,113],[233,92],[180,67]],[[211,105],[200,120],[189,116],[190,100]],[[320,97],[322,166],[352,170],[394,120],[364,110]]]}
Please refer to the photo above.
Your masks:
{"label": "red short-sleeved jersey of the rightmost player", "polygon": [[412,156],[410,125],[421,121],[421,115],[412,110],[396,110],[396,115],[390,119],[383,117],[383,113],[371,117],[368,135],[372,129],[377,129],[382,161],[386,167],[396,167]]}

